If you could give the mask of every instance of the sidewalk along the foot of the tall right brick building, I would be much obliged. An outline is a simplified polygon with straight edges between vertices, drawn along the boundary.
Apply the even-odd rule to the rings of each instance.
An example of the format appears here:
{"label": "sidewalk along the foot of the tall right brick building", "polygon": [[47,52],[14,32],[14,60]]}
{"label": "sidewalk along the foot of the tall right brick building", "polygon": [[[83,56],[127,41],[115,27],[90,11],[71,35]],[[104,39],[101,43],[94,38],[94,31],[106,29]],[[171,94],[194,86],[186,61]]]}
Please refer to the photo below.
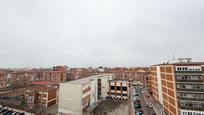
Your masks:
{"label": "sidewalk along the foot of the tall right brick building", "polygon": [[164,115],[162,105],[155,102],[146,89],[144,90],[143,96],[147,105],[149,105],[150,103],[152,104],[153,109],[157,115]]}

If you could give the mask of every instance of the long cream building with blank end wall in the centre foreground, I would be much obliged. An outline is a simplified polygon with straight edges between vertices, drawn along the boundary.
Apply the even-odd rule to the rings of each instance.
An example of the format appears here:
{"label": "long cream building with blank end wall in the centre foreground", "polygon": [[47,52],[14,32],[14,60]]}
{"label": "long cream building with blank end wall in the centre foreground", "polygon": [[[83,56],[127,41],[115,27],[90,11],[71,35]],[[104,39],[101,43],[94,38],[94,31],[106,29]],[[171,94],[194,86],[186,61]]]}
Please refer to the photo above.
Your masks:
{"label": "long cream building with blank end wall in the centre foreground", "polygon": [[82,115],[86,111],[93,110],[98,100],[108,96],[108,81],[111,79],[112,74],[101,74],[61,83],[59,114]]}

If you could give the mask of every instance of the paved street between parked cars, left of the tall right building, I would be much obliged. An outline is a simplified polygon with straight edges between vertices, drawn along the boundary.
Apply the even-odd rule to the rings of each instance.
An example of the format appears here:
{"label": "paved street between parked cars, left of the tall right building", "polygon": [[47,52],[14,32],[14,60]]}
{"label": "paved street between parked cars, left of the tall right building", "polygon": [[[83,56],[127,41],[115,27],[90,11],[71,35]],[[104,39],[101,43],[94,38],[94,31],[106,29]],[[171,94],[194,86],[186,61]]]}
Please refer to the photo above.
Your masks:
{"label": "paved street between parked cars, left of the tall right building", "polygon": [[144,115],[153,115],[155,112],[153,108],[149,108],[144,100],[144,95],[142,94],[141,88],[136,88],[136,91],[139,93],[140,103],[142,105],[142,110],[144,111]]}

